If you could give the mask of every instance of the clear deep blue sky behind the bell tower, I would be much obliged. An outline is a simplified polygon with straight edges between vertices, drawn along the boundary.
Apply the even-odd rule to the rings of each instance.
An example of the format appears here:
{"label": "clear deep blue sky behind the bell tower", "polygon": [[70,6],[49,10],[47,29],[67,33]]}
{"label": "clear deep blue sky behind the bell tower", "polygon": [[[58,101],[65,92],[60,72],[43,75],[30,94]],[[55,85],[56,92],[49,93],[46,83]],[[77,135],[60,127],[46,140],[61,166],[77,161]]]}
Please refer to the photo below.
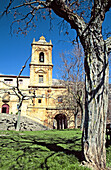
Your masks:
{"label": "clear deep blue sky behind the bell tower", "polygon": [[[111,22],[109,22],[110,16],[111,12],[106,15],[104,21],[104,28],[108,28],[109,30],[111,29]],[[53,44],[53,78],[57,78],[58,66],[60,65],[60,53],[73,49],[73,45],[70,41],[75,38],[75,31],[71,30],[69,26],[69,35],[64,35],[64,32],[62,31],[61,34],[59,34],[57,23],[60,22],[60,20],[59,17],[56,16],[52,31],[49,30],[49,20],[41,19],[38,21],[36,31],[30,31],[27,36],[24,36],[23,34],[13,34],[11,36],[11,22],[10,16],[0,18],[0,74],[18,75],[24,62],[31,55],[31,43],[33,38],[38,41],[39,37],[43,35],[46,38],[46,41],[49,42],[51,40]],[[29,63],[22,75],[29,76]]]}

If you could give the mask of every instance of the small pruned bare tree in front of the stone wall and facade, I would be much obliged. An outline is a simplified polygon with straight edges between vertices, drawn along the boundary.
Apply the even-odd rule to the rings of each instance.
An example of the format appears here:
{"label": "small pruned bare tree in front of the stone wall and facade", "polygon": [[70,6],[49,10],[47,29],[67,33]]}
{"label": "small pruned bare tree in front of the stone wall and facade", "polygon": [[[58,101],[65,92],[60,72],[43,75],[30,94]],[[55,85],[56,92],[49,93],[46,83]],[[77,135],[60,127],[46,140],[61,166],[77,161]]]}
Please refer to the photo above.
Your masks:
{"label": "small pruned bare tree in front of the stone wall and facade", "polygon": [[[35,53],[36,50],[33,52]],[[38,96],[37,94],[35,94],[35,90],[36,89],[32,89],[29,88],[24,91],[19,87],[19,79],[21,77],[21,74],[23,72],[23,70],[26,67],[26,64],[28,62],[28,60],[31,58],[32,54],[28,57],[28,59],[26,60],[25,64],[22,66],[22,69],[20,70],[18,76],[16,76],[16,85],[15,86],[11,86],[8,85],[7,83],[5,83],[4,81],[0,81],[0,83],[5,84],[6,88],[5,89],[1,89],[0,90],[0,94],[4,94],[4,97],[10,97],[11,95],[14,95],[18,98],[18,104],[17,104],[17,109],[18,109],[18,118],[17,118],[17,124],[16,124],[16,131],[20,130],[20,117],[21,117],[21,108],[22,108],[22,104],[24,100],[30,100],[32,99],[32,102],[34,104],[34,99],[35,98],[43,98],[45,96]]]}

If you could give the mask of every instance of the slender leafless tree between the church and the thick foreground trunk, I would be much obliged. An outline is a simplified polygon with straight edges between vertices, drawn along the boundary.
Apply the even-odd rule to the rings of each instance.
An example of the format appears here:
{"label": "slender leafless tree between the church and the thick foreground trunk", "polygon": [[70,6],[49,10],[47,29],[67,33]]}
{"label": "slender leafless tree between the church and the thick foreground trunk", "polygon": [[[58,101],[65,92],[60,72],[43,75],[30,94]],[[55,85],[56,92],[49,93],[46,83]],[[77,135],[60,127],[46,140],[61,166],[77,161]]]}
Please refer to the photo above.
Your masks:
{"label": "slender leafless tree between the church and the thick foreground trunk", "polygon": [[[77,125],[77,116],[81,112],[81,129],[83,128],[84,112],[84,53],[82,46],[75,45],[72,51],[61,54],[61,67],[59,67],[61,79],[60,84],[67,91],[62,95],[62,102],[58,107],[66,109],[68,117],[74,116],[74,126]],[[80,122],[79,122],[80,126]]]}

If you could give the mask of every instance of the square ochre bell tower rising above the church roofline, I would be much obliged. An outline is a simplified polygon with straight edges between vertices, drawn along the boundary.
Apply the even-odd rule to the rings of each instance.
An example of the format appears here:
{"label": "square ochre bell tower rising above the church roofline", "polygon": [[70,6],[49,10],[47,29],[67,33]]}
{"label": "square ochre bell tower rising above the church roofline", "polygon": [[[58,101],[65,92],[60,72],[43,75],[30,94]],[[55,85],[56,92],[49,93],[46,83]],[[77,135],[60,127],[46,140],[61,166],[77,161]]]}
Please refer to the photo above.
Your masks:
{"label": "square ochre bell tower rising above the church roofline", "polygon": [[41,36],[39,41],[35,41],[32,46],[32,58],[30,63],[30,87],[51,86],[52,85],[52,42],[46,42]]}

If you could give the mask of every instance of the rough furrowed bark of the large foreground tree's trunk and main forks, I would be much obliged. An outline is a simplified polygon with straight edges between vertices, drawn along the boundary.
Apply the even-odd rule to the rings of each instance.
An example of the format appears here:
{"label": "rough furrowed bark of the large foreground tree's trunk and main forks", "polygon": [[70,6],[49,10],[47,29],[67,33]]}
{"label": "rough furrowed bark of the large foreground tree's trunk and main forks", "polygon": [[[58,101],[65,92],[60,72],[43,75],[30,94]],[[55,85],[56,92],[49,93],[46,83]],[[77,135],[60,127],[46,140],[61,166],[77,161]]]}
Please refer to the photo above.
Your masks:
{"label": "rough furrowed bark of the large foreground tree's trunk and main forks", "polygon": [[[49,0],[50,1],[50,0]],[[50,1],[51,8],[77,31],[85,52],[84,163],[95,169],[106,168],[106,117],[108,108],[108,57],[102,37],[102,23],[111,1],[95,0],[88,24],[71,12],[64,1]],[[61,3],[60,3],[61,2]]]}

